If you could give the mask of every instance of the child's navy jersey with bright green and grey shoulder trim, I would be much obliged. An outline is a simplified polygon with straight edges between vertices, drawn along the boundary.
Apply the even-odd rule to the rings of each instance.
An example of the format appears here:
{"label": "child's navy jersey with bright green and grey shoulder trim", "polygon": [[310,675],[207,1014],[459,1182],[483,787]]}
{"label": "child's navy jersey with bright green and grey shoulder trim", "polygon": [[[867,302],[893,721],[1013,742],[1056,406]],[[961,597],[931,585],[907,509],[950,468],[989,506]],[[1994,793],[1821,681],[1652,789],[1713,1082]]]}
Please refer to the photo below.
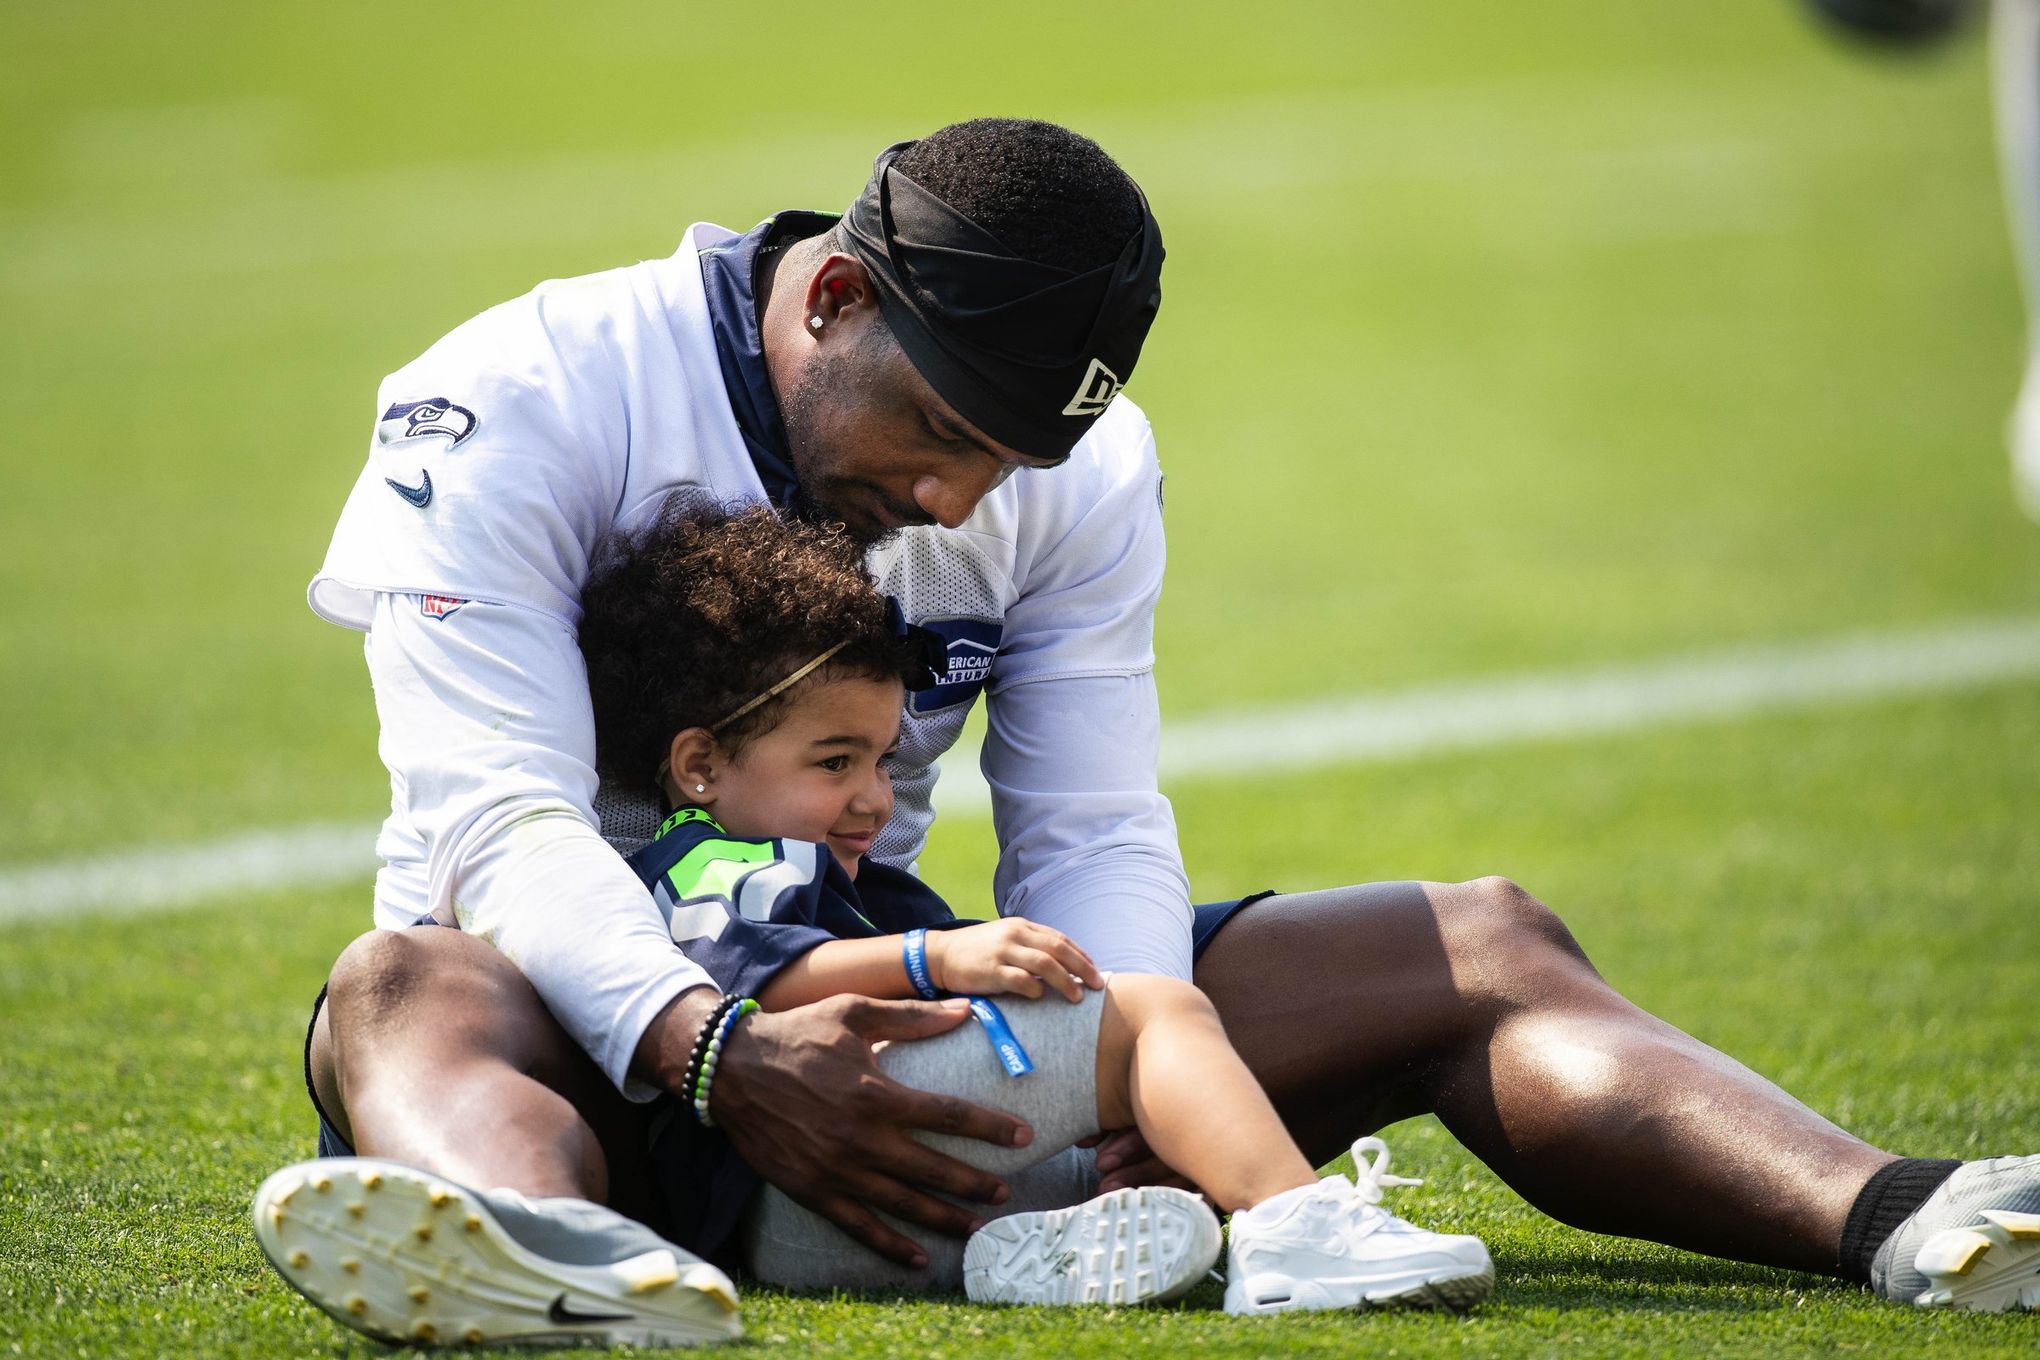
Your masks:
{"label": "child's navy jersey with bright green and grey shoulder trim", "polygon": [[853,883],[826,846],[730,836],[681,807],[630,856],[673,942],[726,995],[755,997],[816,944],[963,926],[914,875],[863,860]]}

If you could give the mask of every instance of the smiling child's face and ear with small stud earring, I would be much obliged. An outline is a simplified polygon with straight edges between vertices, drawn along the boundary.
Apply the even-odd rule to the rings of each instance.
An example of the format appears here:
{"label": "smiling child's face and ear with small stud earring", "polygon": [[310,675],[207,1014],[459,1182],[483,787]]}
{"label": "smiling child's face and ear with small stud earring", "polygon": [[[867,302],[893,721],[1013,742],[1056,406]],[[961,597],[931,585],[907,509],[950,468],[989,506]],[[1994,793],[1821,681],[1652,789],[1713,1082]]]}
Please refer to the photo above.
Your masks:
{"label": "smiling child's face and ear with small stud earring", "polygon": [[[826,844],[857,877],[857,858],[891,816],[885,759],[900,740],[904,693],[894,679],[810,681],[789,695],[779,724],[745,742],[734,759],[720,750],[683,756],[683,732],[673,750],[679,805],[708,807],[732,836]],[[706,793],[694,793],[696,783]]]}

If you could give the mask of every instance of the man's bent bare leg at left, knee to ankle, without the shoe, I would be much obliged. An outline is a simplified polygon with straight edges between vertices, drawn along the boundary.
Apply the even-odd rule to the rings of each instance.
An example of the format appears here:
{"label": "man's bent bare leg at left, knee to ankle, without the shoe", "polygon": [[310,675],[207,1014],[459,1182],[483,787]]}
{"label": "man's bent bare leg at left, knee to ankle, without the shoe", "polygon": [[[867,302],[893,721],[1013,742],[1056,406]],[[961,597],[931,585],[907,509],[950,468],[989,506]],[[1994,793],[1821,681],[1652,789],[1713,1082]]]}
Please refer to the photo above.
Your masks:
{"label": "man's bent bare leg at left, knee to ankle, without the shoe", "polygon": [[341,954],[312,1085],[361,1156],[463,1185],[647,1207],[643,1126],[524,975],[459,930],[377,930]]}

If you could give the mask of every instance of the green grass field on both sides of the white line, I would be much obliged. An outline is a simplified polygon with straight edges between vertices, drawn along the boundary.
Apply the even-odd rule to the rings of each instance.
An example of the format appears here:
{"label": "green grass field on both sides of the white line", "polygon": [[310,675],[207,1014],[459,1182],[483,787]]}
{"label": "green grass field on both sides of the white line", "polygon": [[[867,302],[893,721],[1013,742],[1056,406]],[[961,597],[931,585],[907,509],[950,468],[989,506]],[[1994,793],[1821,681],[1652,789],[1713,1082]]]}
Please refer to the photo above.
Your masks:
{"label": "green grass field on both sides of the white line", "polygon": [[[304,583],[375,381],[696,218],[840,206],[1026,112],[1146,186],[1171,718],[2040,616],[1983,43],[1785,0],[0,10],[0,873],[367,820]],[[1508,873],[1616,985],[1895,1150],[2040,1150],[2040,683],[1171,789],[1202,897]],[[981,903],[985,824],[926,873]],[[243,1225],[310,1146],[365,881],[0,922],[0,1354],[373,1354]],[[1430,1121],[1455,1317],[747,1293],[745,1354],[2032,1354],[1542,1219]]]}

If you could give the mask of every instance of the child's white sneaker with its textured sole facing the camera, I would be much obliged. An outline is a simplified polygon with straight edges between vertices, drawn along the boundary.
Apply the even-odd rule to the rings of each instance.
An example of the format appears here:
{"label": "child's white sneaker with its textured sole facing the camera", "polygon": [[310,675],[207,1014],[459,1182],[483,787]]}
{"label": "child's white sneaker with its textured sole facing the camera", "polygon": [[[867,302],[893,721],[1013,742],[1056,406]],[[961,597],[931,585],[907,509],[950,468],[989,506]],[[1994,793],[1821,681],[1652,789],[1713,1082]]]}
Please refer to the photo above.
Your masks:
{"label": "child's white sneaker with its textured sole facing the camera", "polygon": [[1216,1260],[1212,1207],[1142,1185],[991,1219],[963,1244],[963,1293],[977,1303],[1169,1303]]}

